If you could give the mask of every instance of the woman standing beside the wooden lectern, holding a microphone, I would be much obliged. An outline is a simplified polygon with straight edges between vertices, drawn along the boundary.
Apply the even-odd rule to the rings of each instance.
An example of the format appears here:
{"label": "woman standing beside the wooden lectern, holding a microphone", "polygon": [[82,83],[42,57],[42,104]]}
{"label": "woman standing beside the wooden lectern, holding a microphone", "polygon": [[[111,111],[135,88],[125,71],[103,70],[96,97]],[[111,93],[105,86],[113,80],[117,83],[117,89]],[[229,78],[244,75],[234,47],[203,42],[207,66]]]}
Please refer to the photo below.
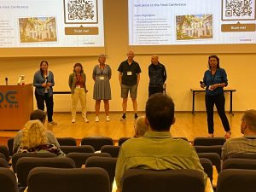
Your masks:
{"label": "woman standing beside the wooden lectern, holding a microphone", "polygon": [[41,61],[40,70],[34,74],[33,86],[37,100],[38,109],[44,111],[44,102],[47,108],[47,117],[49,125],[57,125],[52,119],[53,116],[53,89],[55,85],[54,74],[48,70],[48,61]]}

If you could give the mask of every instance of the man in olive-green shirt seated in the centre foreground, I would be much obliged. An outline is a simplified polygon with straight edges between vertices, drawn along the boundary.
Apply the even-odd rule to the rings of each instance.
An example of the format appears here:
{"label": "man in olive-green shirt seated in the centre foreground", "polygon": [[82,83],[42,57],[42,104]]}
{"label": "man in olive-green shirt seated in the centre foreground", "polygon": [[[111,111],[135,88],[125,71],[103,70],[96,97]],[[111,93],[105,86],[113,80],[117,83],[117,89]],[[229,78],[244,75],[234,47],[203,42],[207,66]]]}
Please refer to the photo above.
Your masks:
{"label": "man in olive-green shirt seated in the centre foreground", "polygon": [[173,139],[174,103],[170,96],[156,93],[146,103],[148,131],[143,137],[131,138],[122,144],[116,164],[115,179],[122,190],[122,177],[130,168],[151,170],[194,169],[207,174],[201,166],[195,148],[183,139]]}

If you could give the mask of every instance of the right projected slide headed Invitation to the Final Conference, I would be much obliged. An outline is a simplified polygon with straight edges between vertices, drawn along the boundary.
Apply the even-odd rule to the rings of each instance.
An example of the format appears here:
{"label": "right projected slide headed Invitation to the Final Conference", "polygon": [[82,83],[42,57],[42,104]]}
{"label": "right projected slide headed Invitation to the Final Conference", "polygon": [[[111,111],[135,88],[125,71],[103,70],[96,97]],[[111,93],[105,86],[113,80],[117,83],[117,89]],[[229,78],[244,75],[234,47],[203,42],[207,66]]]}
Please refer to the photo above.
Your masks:
{"label": "right projected slide headed Invitation to the Final Conference", "polygon": [[256,44],[255,0],[128,0],[129,45]]}

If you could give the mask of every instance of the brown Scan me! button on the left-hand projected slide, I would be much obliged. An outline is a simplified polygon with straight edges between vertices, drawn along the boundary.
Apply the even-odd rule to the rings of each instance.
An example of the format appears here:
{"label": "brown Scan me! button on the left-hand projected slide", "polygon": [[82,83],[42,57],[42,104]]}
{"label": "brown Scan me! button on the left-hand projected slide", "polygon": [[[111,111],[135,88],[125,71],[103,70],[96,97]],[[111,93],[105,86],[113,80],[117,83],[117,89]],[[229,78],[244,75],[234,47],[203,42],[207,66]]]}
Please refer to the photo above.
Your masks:
{"label": "brown Scan me! button on the left-hand projected slide", "polygon": [[98,35],[98,27],[65,27],[65,35]]}

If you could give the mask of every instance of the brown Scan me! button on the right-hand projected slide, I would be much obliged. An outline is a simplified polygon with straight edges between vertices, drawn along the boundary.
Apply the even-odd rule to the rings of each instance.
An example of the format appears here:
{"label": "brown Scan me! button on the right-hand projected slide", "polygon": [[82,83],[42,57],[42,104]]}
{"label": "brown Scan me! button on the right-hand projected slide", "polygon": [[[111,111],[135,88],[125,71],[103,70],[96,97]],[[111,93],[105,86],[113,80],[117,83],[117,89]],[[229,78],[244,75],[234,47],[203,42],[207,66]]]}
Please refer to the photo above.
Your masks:
{"label": "brown Scan me! button on the right-hand projected slide", "polygon": [[222,24],[221,32],[255,32],[255,24]]}

